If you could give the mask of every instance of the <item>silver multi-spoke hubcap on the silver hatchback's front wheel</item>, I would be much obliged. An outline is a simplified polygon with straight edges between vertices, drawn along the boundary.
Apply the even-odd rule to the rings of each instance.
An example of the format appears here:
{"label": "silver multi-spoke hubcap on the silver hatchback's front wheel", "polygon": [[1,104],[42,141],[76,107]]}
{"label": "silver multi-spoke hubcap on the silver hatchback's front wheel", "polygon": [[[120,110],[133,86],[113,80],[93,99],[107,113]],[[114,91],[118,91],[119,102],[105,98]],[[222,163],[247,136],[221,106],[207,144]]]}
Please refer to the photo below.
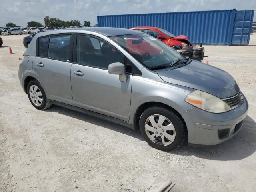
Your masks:
{"label": "silver multi-spoke hubcap on the silver hatchback's front wheel", "polygon": [[163,115],[154,114],[145,122],[148,138],[159,145],[168,146],[174,142],[176,131],[172,122]]}

